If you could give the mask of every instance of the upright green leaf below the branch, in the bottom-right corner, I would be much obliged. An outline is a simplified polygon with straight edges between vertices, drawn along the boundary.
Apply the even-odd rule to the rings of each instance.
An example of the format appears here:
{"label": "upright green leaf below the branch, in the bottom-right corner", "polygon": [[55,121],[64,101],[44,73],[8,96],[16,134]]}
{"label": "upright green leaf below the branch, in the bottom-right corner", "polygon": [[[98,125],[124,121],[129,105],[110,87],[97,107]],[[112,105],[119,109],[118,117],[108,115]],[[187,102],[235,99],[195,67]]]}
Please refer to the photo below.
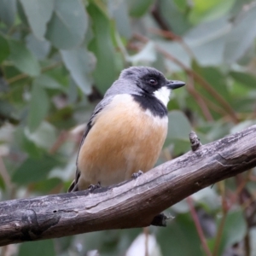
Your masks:
{"label": "upright green leaf below the branch, in the bottom-right corner", "polygon": [[221,236],[218,255],[223,255],[224,250],[237,242],[242,241],[247,232],[247,223],[241,210],[228,212]]}

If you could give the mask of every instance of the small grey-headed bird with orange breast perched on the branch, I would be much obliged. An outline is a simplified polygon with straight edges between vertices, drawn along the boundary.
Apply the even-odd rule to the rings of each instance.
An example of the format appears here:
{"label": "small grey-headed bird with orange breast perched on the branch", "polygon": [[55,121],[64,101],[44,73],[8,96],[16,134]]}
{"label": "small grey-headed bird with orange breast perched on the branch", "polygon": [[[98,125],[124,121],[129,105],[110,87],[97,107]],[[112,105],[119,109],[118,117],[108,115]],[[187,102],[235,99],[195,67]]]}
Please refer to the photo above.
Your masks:
{"label": "small grey-headed bird with orange breast perched on the branch", "polygon": [[154,67],[124,69],[85,127],[68,192],[108,187],[152,169],[166,140],[167,103],[183,85]]}

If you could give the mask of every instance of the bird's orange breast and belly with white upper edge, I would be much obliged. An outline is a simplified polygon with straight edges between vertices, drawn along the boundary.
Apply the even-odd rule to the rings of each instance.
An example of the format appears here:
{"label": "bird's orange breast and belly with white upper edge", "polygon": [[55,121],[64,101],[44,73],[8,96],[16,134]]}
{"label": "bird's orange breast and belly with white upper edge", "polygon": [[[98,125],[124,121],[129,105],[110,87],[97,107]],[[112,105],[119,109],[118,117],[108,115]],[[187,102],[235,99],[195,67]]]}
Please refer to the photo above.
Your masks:
{"label": "bird's orange breast and belly with white upper edge", "polygon": [[139,170],[147,172],[159,157],[166,132],[167,117],[152,116],[129,95],[115,96],[97,115],[80,148],[79,189],[97,182],[108,186]]}

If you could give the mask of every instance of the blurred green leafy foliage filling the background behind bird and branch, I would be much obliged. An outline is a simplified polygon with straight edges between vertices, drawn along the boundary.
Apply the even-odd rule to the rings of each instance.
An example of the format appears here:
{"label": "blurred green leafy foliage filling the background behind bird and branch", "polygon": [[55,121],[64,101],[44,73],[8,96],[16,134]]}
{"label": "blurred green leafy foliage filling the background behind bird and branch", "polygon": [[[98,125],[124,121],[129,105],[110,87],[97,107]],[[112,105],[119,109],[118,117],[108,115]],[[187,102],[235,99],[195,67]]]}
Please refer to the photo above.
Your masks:
{"label": "blurred green leafy foliage filling the background behind bird and branch", "polygon": [[[191,129],[209,143],[255,124],[255,38],[253,0],[0,0],[1,200],[67,191],[84,129],[78,125],[125,67],[156,67],[186,81],[169,103],[158,164],[189,150]],[[131,248],[145,255],[148,237],[148,255],[256,255],[255,175],[167,209],[175,218],[165,229],[27,242],[0,254],[125,255],[130,247],[127,255]]]}

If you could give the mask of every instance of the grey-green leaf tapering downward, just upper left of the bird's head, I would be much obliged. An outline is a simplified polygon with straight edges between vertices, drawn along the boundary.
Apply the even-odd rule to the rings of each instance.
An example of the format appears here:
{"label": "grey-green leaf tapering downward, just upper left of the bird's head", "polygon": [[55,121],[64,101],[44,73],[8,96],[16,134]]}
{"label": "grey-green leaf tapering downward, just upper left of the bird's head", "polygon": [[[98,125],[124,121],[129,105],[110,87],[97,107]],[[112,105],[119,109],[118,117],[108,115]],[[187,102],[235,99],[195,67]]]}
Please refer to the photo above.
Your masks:
{"label": "grey-green leaf tapering downward, just upper left of the bird's head", "polygon": [[96,59],[86,49],[80,47],[70,50],[61,50],[65,66],[70,71],[74,81],[85,95],[91,92],[90,73],[96,65]]}

